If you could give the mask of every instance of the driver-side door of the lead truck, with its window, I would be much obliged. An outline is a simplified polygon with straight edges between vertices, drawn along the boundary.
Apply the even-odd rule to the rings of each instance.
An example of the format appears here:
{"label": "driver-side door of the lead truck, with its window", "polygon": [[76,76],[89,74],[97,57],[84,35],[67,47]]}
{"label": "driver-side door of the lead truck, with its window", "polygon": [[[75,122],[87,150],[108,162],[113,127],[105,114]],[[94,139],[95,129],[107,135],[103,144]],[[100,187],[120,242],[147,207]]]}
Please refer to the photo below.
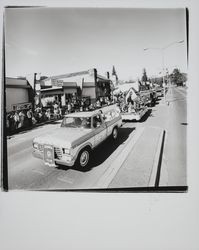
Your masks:
{"label": "driver-side door of the lead truck, with its window", "polygon": [[95,130],[94,146],[106,139],[106,124],[100,114],[93,116],[93,128]]}

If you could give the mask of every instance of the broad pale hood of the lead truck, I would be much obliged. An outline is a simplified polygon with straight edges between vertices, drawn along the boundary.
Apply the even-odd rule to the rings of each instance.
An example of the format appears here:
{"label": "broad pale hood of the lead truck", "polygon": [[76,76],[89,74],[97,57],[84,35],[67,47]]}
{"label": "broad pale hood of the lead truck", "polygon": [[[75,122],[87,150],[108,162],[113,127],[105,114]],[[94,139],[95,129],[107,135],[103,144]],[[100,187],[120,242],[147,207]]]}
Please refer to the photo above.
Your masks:
{"label": "broad pale hood of the lead truck", "polygon": [[50,134],[36,137],[33,142],[48,144],[55,147],[71,148],[90,138],[92,129],[58,128]]}

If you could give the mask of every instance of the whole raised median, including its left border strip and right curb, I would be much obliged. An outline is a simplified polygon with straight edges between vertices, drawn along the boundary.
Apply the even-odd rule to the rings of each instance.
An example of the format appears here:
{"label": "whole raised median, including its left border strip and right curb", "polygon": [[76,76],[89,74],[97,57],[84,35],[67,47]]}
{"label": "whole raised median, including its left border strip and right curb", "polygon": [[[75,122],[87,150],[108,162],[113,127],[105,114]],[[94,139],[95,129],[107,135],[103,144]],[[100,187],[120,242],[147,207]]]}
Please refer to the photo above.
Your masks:
{"label": "whole raised median, including its left border strip and right curb", "polygon": [[100,188],[154,187],[163,130],[145,127],[135,134],[98,181]]}

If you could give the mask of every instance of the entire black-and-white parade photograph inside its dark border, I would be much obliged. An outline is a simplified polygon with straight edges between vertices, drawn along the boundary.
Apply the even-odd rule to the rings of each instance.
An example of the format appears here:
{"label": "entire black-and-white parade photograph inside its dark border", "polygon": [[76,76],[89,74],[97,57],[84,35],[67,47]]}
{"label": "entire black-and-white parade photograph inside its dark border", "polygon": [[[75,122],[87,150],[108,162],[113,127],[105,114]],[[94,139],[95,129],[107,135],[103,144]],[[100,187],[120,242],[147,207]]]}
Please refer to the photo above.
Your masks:
{"label": "entire black-and-white parade photograph inside its dark border", "polygon": [[8,190],[185,191],[186,25],[185,9],[6,9]]}

